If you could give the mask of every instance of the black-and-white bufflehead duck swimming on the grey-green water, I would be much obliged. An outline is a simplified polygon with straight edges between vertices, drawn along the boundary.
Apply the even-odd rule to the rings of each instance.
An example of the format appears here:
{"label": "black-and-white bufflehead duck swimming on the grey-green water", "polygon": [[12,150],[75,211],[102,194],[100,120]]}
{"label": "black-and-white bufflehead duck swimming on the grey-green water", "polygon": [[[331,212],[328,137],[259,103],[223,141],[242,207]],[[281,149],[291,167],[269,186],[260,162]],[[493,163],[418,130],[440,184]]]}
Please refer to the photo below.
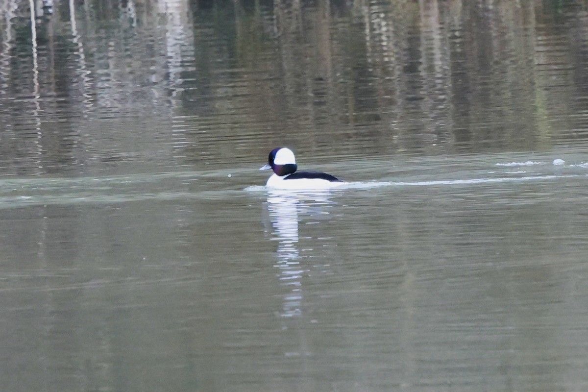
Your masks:
{"label": "black-and-white bufflehead duck swimming on the grey-green water", "polygon": [[259,170],[273,170],[266,186],[279,189],[328,189],[345,182],[320,172],[296,172],[296,158],[289,148],[276,148],[269,153],[268,163]]}

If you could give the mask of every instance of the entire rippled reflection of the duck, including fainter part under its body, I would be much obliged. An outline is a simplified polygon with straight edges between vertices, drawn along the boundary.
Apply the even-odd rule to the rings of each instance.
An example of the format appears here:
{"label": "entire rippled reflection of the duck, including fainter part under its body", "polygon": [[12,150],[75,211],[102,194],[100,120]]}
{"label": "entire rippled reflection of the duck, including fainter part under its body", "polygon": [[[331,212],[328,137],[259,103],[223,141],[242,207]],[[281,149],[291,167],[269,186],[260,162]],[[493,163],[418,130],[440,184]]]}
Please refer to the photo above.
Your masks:
{"label": "entire rippled reflection of the duck, including fainter part under its body", "polygon": [[[279,278],[289,290],[283,297],[280,316],[295,317],[302,314],[303,278],[308,276],[309,267],[303,259],[312,257],[312,248],[305,247],[304,254],[299,249],[299,217],[328,216],[329,207],[335,204],[327,190],[313,192],[292,192],[271,190],[268,195],[268,212],[271,222],[272,240],[278,241],[275,264],[280,270]],[[305,234],[305,238],[308,238]]]}

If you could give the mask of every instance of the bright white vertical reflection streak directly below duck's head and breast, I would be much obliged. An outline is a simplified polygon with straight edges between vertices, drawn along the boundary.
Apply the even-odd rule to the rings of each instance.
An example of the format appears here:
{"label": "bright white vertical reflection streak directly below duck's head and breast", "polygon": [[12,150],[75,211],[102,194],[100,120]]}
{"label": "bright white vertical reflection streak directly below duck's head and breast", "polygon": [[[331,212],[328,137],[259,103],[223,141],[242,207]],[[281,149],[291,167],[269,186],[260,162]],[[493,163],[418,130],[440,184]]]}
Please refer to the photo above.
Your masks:
{"label": "bright white vertical reflection streak directly below duck's head and breast", "polygon": [[300,269],[298,251],[298,197],[276,193],[268,197],[269,216],[272,220],[274,239],[278,244],[280,281],[292,290],[284,296],[282,316],[299,316],[302,301],[303,270]]}

